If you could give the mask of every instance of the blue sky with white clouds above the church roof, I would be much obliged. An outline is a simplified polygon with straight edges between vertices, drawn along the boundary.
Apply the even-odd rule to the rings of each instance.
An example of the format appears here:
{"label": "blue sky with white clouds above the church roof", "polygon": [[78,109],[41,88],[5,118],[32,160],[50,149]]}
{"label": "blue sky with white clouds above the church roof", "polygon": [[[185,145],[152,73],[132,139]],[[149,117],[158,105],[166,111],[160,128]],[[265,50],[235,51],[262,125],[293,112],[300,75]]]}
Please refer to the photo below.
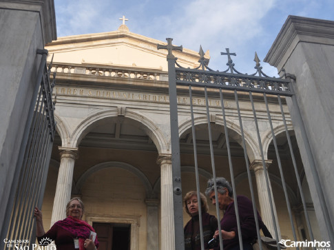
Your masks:
{"label": "blue sky with white clouds above the church roof", "polygon": [[209,50],[209,67],[226,70],[229,48],[242,73],[255,72],[258,53],[266,74],[277,70],[263,59],[289,15],[334,21],[333,0],[54,0],[58,37],[117,30],[125,15],[130,32],[198,51]]}

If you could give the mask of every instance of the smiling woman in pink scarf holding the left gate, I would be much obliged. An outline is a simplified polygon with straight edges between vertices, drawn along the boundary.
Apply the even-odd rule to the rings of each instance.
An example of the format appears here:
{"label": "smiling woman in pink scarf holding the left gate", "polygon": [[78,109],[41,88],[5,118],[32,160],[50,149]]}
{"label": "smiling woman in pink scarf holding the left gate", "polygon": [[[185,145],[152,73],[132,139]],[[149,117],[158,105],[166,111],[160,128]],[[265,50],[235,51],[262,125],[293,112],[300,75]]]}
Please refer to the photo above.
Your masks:
{"label": "smiling woman in pink scarf holding the left gate", "polygon": [[[65,220],[59,220],[45,233],[42,221],[42,212],[35,207],[36,236],[41,244],[49,244],[54,240],[57,250],[96,250],[98,240],[91,225],[81,220],[84,207],[80,198],[75,197],[66,205]],[[93,241],[94,240],[94,241]]]}

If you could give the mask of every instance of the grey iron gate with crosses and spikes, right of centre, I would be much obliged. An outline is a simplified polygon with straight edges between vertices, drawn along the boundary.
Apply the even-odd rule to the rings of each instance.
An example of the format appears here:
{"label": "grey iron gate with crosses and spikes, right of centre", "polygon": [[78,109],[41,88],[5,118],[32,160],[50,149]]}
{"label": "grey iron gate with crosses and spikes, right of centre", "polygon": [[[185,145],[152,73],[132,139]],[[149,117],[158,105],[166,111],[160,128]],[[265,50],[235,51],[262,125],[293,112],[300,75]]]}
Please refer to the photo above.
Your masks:
{"label": "grey iron gate with crosses and spikes, right of centre", "polygon": [[[259,127],[258,127],[258,118],[257,118],[257,112],[254,106],[253,96],[256,95],[257,98],[263,98],[263,103],[265,105],[265,109],[267,110],[267,120],[270,125],[271,130],[271,136],[273,141],[273,147],[275,148],[275,155],[278,162],[278,171],[280,173],[280,180],[282,180],[282,188],[284,191],[285,201],[286,201],[286,207],[287,211],[289,212],[289,220],[291,223],[291,230],[293,232],[293,240],[297,241],[298,236],[296,233],[295,225],[293,222],[293,213],[291,211],[291,204],[289,202],[288,197],[288,191],[286,189],[286,182],[284,180],[284,171],[282,169],[282,164],[280,160],[280,154],[278,152],[278,143],[275,138],[275,132],[273,128],[273,123],[271,120],[271,110],[269,109],[269,98],[271,100],[275,100],[280,110],[280,115],[282,116],[282,121],[284,123],[284,130],[286,133],[286,140],[289,144],[289,151],[291,154],[291,159],[293,163],[293,169],[295,172],[295,178],[298,183],[298,189],[300,193],[300,198],[302,200],[302,207],[304,211],[304,216],[306,220],[307,230],[309,233],[309,240],[313,241],[313,231],[310,223],[310,219],[308,216],[308,212],[306,209],[306,202],[304,198],[304,194],[302,191],[302,183],[300,180],[300,176],[298,174],[298,169],[296,165],[295,160],[295,154],[293,152],[293,147],[291,145],[291,136],[289,134],[289,129],[286,123],[286,117],[284,114],[284,98],[291,98],[291,101],[293,101],[293,104],[295,105],[295,108],[298,109],[297,102],[295,100],[294,92],[293,92],[293,81],[294,76],[285,74],[284,72],[284,79],[282,78],[275,78],[275,77],[269,77],[264,72],[262,72],[262,67],[260,66],[260,60],[258,59],[257,54],[255,53],[255,70],[256,72],[254,74],[242,74],[236,70],[234,67],[233,60],[231,59],[231,56],[236,56],[235,53],[229,52],[229,49],[226,49],[226,52],[221,53],[222,55],[227,55],[228,62],[227,62],[227,70],[223,72],[213,71],[208,67],[208,61],[205,59],[205,53],[202,51],[202,48],[200,48],[200,65],[195,69],[189,69],[182,67],[178,62],[176,61],[176,57],[172,54],[172,50],[179,50],[182,51],[182,46],[176,47],[171,44],[172,39],[167,39],[167,45],[158,45],[158,49],[166,49],[168,50],[167,54],[167,61],[168,61],[168,76],[169,76],[169,102],[170,102],[170,123],[171,123],[171,154],[172,154],[172,171],[173,171],[173,188],[174,188],[174,226],[175,226],[175,249],[184,249],[184,238],[183,238],[183,220],[182,220],[182,188],[181,188],[181,169],[180,169],[180,138],[179,138],[179,124],[178,124],[178,95],[177,91],[182,88],[185,90],[185,86],[188,88],[189,91],[189,110],[191,114],[191,134],[192,134],[192,141],[194,144],[194,169],[196,174],[196,187],[197,187],[197,195],[200,197],[200,182],[199,182],[199,175],[198,175],[198,160],[197,160],[197,146],[196,146],[196,131],[195,131],[195,125],[194,125],[194,108],[193,108],[193,93],[194,90],[197,93],[202,92],[202,94],[205,96],[205,107],[206,107],[206,116],[207,116],[207,129],[208,129],[208,137],[209,137],[209,149],[210,149],[210,156],[211,156],[211,169],[212,169],[212,176],[213,178],[216,178],[216,167],[215,167],[215,160],[214,160],[214,154],[213,154],[213,144],[212,144],[212,136],[211,136],[211,118],[210,118],[210,108],[209,108],[209,98],[208,94],[214,94],[219,96],[220,99],[220,105],[221,105],[221,116],[224,121],[224,129],[225,129],[225,138],[226,138],[226,145],[227,145],[227,154],[229,158],[229,171],[231,173],[231,185],[233,187],[233,197],[235,201],[235,209],[236,209],[236,215],[237,215],[237,221],[238,221],[238,202],[236,200],[236,185],[235,185],[235,176],[233,174],[233,164],[231,160],[231,149],[230,149],[230,142],[229,142],[229,133],[227,131],[227,119],[225,114],[225,95],[227,95],[227,92],[229,92],[230,96],[234,96],[234,101],[236,102],[236,112],[238,115],[238,121],[239,121],[239,127],[240,127],[240,136],[242,138],[241,144],[244,151],[244,163],[247,167],[247,176],[249,180],[249,187],[251,191],[251,200],[253,201],[253,211],[254,211],[254,217],[256,216],[256,205],[255,205],[255,197],[253,192],[253,185],[251,180],[251,172],[249,168],[249,156],[247,153],[247,145],[245,141],[244,131],[243,131],[243,121],[242,121],[242,115],[240,114],[240,107],[239,107],[239,96],[240,93],[244,93],[243,96],[249,94],[249,110],[251,110],[253,114],[253,122],[254,122],[254,128],[256,130],[257,138],[258,138],[258,147],[260,147],[260,156],[261,156],[261,162],[264,170],[264,176],[265,176],[265,185],[267,190],[270,190],[271,187],[269,187],[269,174],[267,173],[267,167],[264,157],[264,150],[262,149],[262,138],[260,136]],[[177,67],[176,67],[177,66]],[[177,87],[179,86],[179,87]],[[182,86],[182,87],[180,87]],[[261,97],[262,96],[262,97]],[[283,103],[283,104],[282,104]],[[301,121],[302,122],[302,121]],[[301,124],[303,126],[303,124]],[[307,138],[305,136],[305,138]],[[311,152],[311,150],[310,150]],[[310,153],[310,157],[311,153]],[[312,160],[310,158],[310,160]],[[313,170],[315,170],[314,163],[311,164],[313,167]],[[328,218],[328,211],[326,211],[326,206],[324,205],[324,196],[322,194],[322,189],[320,186],[320,180],[319,177],[316,174],[316,171],[313,173],[313,178],[315,180],[315,183],[317,183],[317,194],[320,197],[321,200],[321,209],[324,213],[324,217]],[[214,185],[215,190],[215,196],[216,200],[217,198],[217,187],[216,183]],[[270,209],[271,209],[271,216],[274,218],[274,211],[275,207],[273,205],[273,198],[271,197],[271,192],[268,192],[269,194],[269,203],[270,203]],[[200,199],[198,199],[199,205],[199,213],[201,213],[200,209]],[[218,218],[218,222],[220,221],[220,212],[218,207],[218,202],[216,204],[216,216]],[[327,217],[326,217],[327,216]],[[204,250],[204,244],[203,244],[203,232],[202,232],[202,219],[200,218],[200,236],[201,236],[201,249]],[[330,220],[328,219],[328,222]],[[260,238],[260,231],[259,231],[259,225],[258,220],[256,219],[256,228],[258,231],[258,238]],[[273,228],[274,228],[274,234],[273,237],[276,239],[279,239],[279,232],[278,232],[278,225],[276,225],[276,220],[273,219]],[[326,225],[328,231],[331,231],[332,226]],[[218,223],[218,229],[220,231],[220,249],[223,249],[222,245],[222,235],[221,235],[221,228],[220,223]],[[273,233],[273,232],[272,232]],[[240,249],[242,248],[242,238],[241,238],[241,231],[240,231],[240,222],[238,221],[238,235],[239,235],[239,243],[240,243]],[[333,230],[330,233],[330,237],[333,239]],[[280,239],[279,239],[280,240]],[[260,248],[262,249],[262,246],[260,244]],[[280,246],[278,244],[278,249],[280,249]],[[297,247],[298,249],[298,247]],[[315,247],[313,247],[315,249]]]}

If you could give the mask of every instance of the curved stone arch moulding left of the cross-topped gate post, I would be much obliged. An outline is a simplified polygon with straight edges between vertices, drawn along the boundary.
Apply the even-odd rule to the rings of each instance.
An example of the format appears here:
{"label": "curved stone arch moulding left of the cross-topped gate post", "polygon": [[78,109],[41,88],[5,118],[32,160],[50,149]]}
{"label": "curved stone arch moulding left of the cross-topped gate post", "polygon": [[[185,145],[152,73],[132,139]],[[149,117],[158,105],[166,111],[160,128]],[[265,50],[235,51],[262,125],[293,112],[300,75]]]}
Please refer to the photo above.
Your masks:
{"label": "curved stone arch moulding left of the cross-topped gate post", "polygon": [[[98,111],[91,116],[85,118],[85,120],[82,121],[79,126],[76,127],[76,129],[74,129],[70,140],[70,147],[78,147],[82,138],[85,137],[88,132],[90,132],[90,127],[96,121],[113,116],[118,116],[117,108],[115,108],[114,110]],[[146,116],[142,114],[132,111],[126,111],[124,117],[131,118],[134,121],[138,121],[140,125],[143,125],[140,128],[143,129],[147,133],[147,136],[152,139],[154,145],[156,145],[156,148],[158,149],[158,154],[166,154],[168,152],[169,143],[167,143],[165,136],[163,136],[163,133],[158,127],[156,127],[153,121],[150,121]]]}

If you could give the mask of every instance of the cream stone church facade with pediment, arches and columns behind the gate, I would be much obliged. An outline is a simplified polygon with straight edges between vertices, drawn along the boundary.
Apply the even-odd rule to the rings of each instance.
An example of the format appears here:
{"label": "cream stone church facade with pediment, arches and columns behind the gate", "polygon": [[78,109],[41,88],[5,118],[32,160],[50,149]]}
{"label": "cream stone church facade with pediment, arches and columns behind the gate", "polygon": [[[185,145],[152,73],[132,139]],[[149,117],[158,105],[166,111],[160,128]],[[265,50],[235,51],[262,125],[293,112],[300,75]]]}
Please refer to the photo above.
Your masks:
{"label": "cream stone church facade with pediment, arches and columns behind the gate", "polygon": [[[174,248],[167,52],[158,50],[158,43],[163,42],[129,32],[123,24],[114,32],[61,37],[45,46],[49,61],[53,56],[52,72],[56,72],[57,131],[42,207],[45,227],[65,218],[66,202],[79,196],[85,203],[84,219],[96,228],[105,246],[123,242],[131,250]],[[182,67],[199,65],[198,52],[184,49],[174,54]],[[206,58],[209,60],[209,56]],[[224,133],[219,94],[211,91],[208,98],[213,147],[217,153],[216,175],[231,179],[225,140],[229,136],[236,191],[250,197],[236,102],[232,92],[226,91],[225,95],[228,134]],[[265,188],[249,98],[240,94],[239,99],[258,210],[273,231],[268,207],[270,192],[280,238],[292,239],[265,105],[255,94],[259,132],[269,169],[269,190]],[[177,102],[182,194],[196,189],[190,102],[194,105],[198,140],[200,191],[204,192],[212,176],[205,96],[195,90],[189,98],[187,89],[178,87]],[[295,138],[289,110],[286,104],[283,107],[289,133]],[[269,97],[269,108],[284,173],[293,176],[284,124],[275,98]],[[316,228],[295,139],[293,149],[308,213]],[[306,238],[306,222],[295,178],[286,178],[286,184],[298,238]],[[213,205],[209,211],[216,213]],[[183,214],[183,220],[184,224],[189,220],[187,213]],[[317,229],[314,233],[318,233]]]}

